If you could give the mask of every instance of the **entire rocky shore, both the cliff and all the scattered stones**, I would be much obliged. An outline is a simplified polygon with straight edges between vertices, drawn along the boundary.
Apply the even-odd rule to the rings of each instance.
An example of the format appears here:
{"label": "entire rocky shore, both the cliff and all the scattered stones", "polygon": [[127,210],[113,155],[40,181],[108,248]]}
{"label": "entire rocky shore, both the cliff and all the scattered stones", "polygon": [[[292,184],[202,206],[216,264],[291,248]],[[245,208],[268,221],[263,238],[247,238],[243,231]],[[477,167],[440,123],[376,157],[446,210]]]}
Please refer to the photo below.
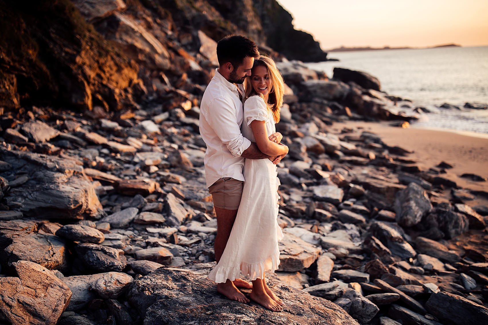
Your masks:
{"label": "entire rocky shore, both the cliff and all the scattered stones", "polygon": [[[53,34],[31,65],[0,44],[1,324],[488,323],[488,208],[473,204],[486,187],[462,188],[445,177],[449,161],[421,167],[372,132],[334,130],[417,115],[373,76],[336,69],[329,79],[265,41],[287,85],[277,124],[290,148],[278,166],[285,239],[269,281],[286,305],[224,299],[207,278],[216,220],[199,103],[214,38],[271,39],[273,21],[233,17],[224,1],[85,2],[48,10]],[[17,9],[0,11],[21,18],[24,37],[44,35]],[[73,20],[77,41],[61,32]],[[22,53],[34,53],[31,41]]]}

